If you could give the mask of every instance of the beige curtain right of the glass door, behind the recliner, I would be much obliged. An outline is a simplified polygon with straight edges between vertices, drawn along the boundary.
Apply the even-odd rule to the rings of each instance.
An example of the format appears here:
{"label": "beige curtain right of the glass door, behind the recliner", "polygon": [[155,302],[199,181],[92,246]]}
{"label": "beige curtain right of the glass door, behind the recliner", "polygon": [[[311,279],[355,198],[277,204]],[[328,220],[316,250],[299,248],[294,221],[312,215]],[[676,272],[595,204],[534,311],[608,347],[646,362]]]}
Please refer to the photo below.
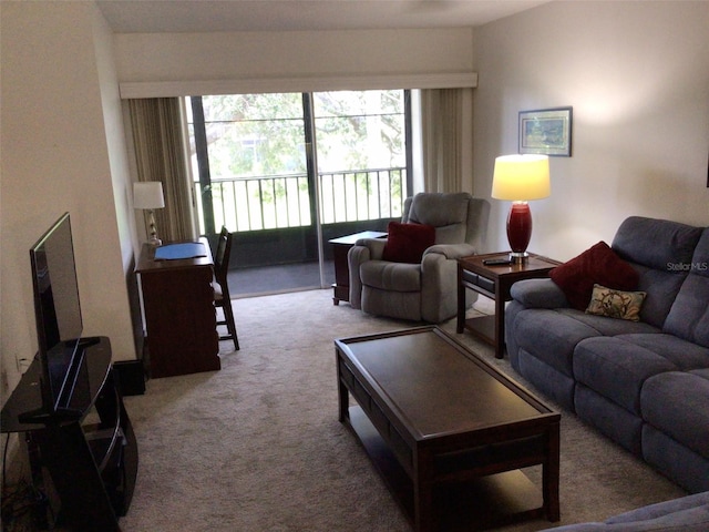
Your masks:
{"label": "beige curtain right of the glass door, behind the recliner", "polygon": [[471,192],[472,89],[421,91],[421,144],[425,192]]}

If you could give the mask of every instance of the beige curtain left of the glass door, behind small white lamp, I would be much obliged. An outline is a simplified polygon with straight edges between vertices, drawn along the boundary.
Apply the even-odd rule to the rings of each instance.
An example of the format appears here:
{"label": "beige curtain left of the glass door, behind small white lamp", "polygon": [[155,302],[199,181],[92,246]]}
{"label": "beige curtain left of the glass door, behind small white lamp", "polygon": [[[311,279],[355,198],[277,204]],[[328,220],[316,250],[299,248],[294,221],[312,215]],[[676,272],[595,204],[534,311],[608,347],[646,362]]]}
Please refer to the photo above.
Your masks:
{"label": "beige curtain left of the glass door, behind small white lamp", "polygon": [[[129,100],[138,181],[161,181],[165,208],[155,209],[163,242],[195,238],[179,99]],[[147,215],[147,214],[146,214]]]}

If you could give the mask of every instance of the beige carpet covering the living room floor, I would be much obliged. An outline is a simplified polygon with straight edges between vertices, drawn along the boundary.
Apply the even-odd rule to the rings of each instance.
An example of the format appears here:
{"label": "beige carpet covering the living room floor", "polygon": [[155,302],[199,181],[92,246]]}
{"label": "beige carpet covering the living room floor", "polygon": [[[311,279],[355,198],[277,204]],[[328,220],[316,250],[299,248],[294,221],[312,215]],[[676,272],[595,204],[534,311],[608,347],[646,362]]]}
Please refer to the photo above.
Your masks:
{"label": "beige carpet covering the living room floor", "polygon": [[[123,532],[411,530],[338,422],[332,340],[412,324],[333,306],[330,290],[237,299],[234,309],[242,350],[222,342],[220,371],[151,380],[144,396],[125,400],[140,468]],[[443,327],[454,332],[454,320]],[[489,346],[469,334],[460,338],[512,371],[494,360]],[[556,525],[603,520],[684,494],[562,413]],[[530,521],[499,530],[552,525]]]}

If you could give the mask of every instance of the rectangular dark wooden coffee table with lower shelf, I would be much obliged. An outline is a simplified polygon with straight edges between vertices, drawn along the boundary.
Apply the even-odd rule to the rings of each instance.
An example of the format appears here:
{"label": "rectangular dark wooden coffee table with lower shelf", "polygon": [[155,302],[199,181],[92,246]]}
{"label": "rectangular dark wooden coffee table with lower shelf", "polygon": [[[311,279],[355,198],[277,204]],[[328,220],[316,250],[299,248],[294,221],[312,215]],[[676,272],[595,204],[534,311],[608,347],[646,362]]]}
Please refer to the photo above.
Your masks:
{"label": "rectangular dark wooden coffee table with lower shelf", "polygon": [[559,413],[436,327],[335,346],[339,419],[415,531],[558,521]]}

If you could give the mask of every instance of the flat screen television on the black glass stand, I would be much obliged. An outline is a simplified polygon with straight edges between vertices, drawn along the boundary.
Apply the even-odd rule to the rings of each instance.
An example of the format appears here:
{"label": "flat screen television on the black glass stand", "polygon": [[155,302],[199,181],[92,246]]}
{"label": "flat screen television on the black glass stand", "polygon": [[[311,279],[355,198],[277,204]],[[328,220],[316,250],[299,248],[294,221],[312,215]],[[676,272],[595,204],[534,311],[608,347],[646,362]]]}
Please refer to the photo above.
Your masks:
{"label": "flat screen television on the black glass stand", "polygon": [[83,320],[69,213],[30,248],[42,407],[25,421],[80,417],[71,408],[83,358]]}

